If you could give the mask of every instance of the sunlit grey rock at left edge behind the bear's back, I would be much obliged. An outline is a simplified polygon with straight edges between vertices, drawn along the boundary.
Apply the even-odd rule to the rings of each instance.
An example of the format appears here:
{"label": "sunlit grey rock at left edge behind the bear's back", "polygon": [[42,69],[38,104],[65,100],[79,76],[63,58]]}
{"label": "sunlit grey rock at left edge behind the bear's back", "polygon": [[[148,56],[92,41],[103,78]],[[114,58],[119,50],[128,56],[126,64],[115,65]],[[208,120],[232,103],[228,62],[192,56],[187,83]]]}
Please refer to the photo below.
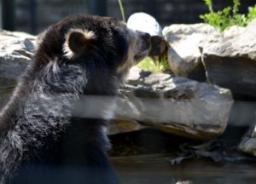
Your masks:
{"label": "sunlit grey rock at left edge behind the bear's back", "polygon": [[23,32],[0,31],[0,109],[8,101],[16,79],[32,60],[36,37]]}

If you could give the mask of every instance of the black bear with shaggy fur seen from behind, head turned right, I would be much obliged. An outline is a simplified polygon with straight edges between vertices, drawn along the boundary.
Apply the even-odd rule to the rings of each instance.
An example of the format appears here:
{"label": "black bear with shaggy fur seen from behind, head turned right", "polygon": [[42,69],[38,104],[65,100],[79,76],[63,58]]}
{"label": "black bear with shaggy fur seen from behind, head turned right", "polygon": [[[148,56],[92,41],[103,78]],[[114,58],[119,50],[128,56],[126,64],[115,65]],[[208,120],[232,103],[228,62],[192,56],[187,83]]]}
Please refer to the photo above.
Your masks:
{"label": "black bear with shaggy fur seen from behind, head turned right", "polygon": [[0,182],[118,183],[108,120],[119,83],[149,49],[147,33],[113,18],[76,14],[49,26],[0,112]]}

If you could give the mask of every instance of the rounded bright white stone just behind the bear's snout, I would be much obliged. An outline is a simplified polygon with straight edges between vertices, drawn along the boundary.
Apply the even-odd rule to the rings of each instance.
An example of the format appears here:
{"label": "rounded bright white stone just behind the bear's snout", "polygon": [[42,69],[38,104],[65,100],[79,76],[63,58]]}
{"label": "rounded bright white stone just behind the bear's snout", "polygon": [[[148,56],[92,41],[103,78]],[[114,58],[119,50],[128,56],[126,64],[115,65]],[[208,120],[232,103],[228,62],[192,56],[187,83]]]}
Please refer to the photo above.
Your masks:
{"label": "rounded bright white stone just behind the bear's snout", "polygon": [[150,56],[162,55],[166,51],[166,41],[162,34],[162,28],[157,20],[150,14],[143,12],[131,14],[127,20],[127,26],[140,32],[148,32],[151,36]]}

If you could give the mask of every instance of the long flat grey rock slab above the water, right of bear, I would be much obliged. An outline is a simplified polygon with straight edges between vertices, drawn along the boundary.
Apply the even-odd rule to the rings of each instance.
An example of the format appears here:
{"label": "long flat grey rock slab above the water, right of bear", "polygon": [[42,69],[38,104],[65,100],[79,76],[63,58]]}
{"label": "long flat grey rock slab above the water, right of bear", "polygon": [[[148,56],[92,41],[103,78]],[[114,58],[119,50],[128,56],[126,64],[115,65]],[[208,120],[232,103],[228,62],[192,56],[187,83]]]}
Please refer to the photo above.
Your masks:
{"label": "long flat grey rock slab above the water, right of bear", "polygon": [[117,118],[200,139],[224,132],[233,104],[228,89],[137,67],[120,93]]}

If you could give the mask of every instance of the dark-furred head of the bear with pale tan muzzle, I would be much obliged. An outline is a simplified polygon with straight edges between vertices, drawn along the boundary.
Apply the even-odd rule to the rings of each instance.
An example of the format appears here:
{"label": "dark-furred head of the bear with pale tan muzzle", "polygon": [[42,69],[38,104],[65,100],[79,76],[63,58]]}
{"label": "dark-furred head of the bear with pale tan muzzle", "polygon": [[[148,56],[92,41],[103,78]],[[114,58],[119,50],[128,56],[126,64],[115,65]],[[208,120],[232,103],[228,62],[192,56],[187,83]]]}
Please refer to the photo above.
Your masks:
{"label": "dark-furred head of the bear with pale tan muzzle", "polygon": [[45,60],[103,68],[122,77],[148,55],[150,36],[134,32],[122,21],[89,14],[76,14],[50,26],[42,34],[37,54]]}

